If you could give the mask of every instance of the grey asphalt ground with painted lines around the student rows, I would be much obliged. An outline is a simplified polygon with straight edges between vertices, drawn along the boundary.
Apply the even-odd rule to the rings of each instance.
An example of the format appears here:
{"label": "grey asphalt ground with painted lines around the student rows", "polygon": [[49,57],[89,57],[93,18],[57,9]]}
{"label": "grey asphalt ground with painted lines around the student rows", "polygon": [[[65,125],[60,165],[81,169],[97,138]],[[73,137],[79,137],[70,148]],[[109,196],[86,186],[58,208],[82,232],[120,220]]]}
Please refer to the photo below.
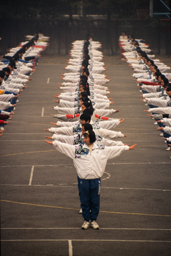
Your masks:
{"label": "grey asphalt ground with painted lines around the student rows", "polygon": [[[39,60],[0,137],[2,256],[170,256],[171,151],[119,57],[106,57],[110,106],[125,118],[116,131],[137,147],[109,160],[102,177],[99,230],[81,230],[73,161],[45,143],[53,97],[68,56]],[[160,57],[161,58],[161,57]],[[161,58],[162,59],[162,58]],[[170,59],[163,60],[169,63]]]}

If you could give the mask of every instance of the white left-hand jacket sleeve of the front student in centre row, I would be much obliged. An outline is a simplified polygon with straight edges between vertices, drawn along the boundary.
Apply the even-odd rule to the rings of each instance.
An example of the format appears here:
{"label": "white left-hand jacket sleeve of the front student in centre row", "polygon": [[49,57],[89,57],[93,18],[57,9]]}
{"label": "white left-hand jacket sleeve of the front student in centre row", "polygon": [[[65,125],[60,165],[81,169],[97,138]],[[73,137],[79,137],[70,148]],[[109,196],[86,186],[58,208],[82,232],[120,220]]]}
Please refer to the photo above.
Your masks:
{"label": "white left-hand jacket sleeve of the front student in centre row", "polygon": [[74,145],[69,145],[66,143],[62,143],[58,140],[53,141],[53,146],[61,153],[67,155],[71,159],[75,157],[75,147]]}

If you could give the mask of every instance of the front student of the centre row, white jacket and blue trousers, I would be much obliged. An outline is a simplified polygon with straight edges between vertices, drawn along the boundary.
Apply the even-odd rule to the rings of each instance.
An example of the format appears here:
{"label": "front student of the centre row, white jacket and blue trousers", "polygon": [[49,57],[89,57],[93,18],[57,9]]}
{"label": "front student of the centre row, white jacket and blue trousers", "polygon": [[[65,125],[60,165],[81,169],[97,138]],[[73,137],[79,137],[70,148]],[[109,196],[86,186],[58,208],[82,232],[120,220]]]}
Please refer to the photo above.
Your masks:
{"label": "front student of the centre row, white jacket and blue trousers", "polygon": [[[54,145],[60,152],[66,154],[73,159],[78,177],[80,178],[81,189],[81,208],[84,224],[82,229],[92,227],[99,229],[96,222],[100,209],[100,191],[101,191],[101,176],[108,159],[118,157],[123,151],[134,149],[132,146],[112,146],[97,145],[94,131],[86,131],[84,133],[84,145],[69,145],[61,143],[57,140],[47,143]],[[91,223],[89,222],[91,220]]]}

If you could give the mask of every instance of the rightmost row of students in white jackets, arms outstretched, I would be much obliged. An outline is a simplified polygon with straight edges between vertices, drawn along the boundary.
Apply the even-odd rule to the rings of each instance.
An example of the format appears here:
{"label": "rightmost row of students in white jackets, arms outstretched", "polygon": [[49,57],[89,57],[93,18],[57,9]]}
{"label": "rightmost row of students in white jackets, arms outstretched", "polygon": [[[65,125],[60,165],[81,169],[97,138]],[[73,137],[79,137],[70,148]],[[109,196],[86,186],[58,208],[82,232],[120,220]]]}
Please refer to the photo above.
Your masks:
{"label": "rightmost row of students in white jackets, arms outstretched", "polygon": [[[125,42],[124,42],[125,44]],[[160,136],[171,150],[171,67],[165,65],[154,55],[147,55],[145,49],[137,47],[133,54],[123,53],[127,63],[134,71],[133,77],[143,92],[141,99],[149,106],[148,116],[159,125]]]}

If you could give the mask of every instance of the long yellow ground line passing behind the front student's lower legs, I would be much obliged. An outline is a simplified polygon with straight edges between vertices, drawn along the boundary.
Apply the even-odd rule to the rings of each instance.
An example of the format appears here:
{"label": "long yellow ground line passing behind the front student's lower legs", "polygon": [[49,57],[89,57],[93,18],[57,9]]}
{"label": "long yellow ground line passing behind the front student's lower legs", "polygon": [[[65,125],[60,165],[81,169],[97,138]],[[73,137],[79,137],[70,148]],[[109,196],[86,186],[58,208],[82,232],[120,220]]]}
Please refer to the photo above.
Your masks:
{"label": "long yellow ground line passing behind the front student's lower legs", "polygon": [[[9,203],[15,203],[15,204],[27,204],[27,203],[20,203],[20,202],[7,201],[7,200],[0,200],[0,201],[9,202]],[[68,210],[80,210],[80,209],[75,209],[75,208],[58,207],[58,206],[49,206],[49,205],[42,205],[42,204],[27,204],[27,205],[42,206],[42,207],[52,207],[52,208],[68,209]],[[107,211],[100,211],[100,212],[105,212],[105,213],[117,213],[117,214],[132,214],[132,215],[150,215],[150,216],[171,217],[171,215],[146,214],[146,213],[107,212]]]}

